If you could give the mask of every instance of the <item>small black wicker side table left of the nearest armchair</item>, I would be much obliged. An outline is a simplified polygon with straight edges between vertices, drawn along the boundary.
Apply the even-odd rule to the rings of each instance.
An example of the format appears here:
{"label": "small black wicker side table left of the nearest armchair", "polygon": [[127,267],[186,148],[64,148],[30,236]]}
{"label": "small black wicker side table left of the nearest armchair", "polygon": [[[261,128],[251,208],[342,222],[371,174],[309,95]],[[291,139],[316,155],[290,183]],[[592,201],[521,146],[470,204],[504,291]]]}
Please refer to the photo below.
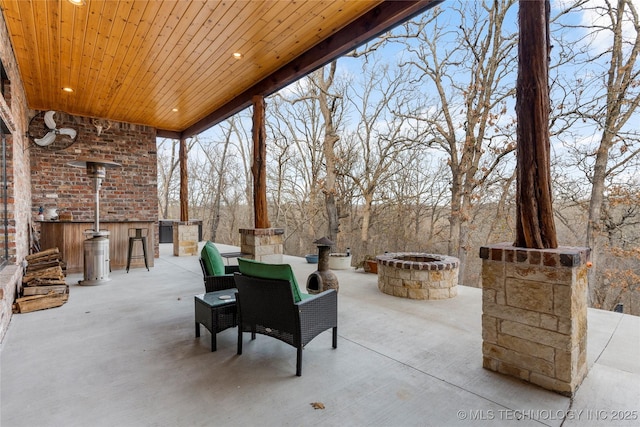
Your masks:
{"label": "small black wicker side table left of the nearest armchair", "polygon": [[[238,325],[236,312],[236,292],[238,290],[224,289],[196,295],[195,318],[196,338],[200,336],[200,324],[211,332],[211,351],[217,350],[216,334],[225,329]],[[229,296],[230,298],[220,298]]]}

